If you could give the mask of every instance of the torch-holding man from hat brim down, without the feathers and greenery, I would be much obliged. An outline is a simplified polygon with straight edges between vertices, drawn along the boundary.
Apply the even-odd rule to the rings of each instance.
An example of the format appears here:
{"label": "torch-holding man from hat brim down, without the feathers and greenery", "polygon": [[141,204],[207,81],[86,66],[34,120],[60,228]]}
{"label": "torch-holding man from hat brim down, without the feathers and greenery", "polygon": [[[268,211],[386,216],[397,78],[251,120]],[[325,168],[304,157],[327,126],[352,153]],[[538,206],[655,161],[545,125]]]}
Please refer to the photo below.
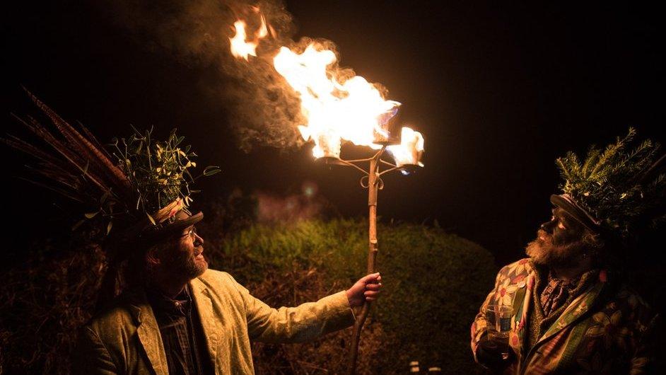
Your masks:
{"label": "torch-holding man from hat brim down, without the feathers and greenery", "polygon": [[76,373],[252,374],[250,340],[314,340],[352,325],[352,308],[381,292],[377,273],[317,302],[270,308],[209,270],[194,227],[203,214],[179,215],[132,258],[127,291],[83,328]]}

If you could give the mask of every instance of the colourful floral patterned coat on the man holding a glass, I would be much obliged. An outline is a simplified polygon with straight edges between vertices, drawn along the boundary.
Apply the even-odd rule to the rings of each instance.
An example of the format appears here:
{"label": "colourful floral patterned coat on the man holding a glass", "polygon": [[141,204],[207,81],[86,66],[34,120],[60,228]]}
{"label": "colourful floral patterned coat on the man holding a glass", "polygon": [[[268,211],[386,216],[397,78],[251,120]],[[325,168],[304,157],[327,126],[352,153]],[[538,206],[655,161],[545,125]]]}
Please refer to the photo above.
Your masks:
{"label": "colourful floral patterned coat on the man holding a glass", "polygon": [[472,323],[472,352],[486,334],[484,308],[491,302],[513,306],[509,345],[516,360],[505,374],[647,374],[654,365],[652,333],[657,317],[624,284],[601,271],[597,282],[571,301],[561,316],[526,345],[528,314],[537,275],[532,261],[522,259],[503,267],[495,288]]}

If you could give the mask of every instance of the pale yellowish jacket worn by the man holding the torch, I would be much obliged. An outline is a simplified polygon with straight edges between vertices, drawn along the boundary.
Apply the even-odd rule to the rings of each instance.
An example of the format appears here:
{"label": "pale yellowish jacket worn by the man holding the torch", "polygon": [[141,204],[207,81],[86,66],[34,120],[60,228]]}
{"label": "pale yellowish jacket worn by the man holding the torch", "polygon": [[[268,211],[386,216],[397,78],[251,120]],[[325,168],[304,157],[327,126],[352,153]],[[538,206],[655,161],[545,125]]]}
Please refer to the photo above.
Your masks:
{"label": "pale yellowish jacket worn by the man holding the torch", "polygon": [[[270,308],[226,272],[189,283],[216,374],[254,374],[250,340],[303,342],[354,323],[345,292],[293,308]],[[143,291],[124,294],[79,334],[78,374],[168,374],[167,359]]]}

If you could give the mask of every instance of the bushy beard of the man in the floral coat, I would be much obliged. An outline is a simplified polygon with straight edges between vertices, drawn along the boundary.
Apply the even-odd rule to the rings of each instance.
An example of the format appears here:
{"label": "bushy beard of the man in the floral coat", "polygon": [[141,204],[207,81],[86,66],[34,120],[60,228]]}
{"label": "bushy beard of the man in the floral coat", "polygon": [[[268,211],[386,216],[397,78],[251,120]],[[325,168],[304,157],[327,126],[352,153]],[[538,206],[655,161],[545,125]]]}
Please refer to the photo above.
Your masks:
{"label": "bushy beard of the man in the floral coat", "polygon": [[552,236],[539,230],[537,238],[527,244],[525,253],[538,265],[568,268],[578,263],[584,249],[583,241],[554,243]]}

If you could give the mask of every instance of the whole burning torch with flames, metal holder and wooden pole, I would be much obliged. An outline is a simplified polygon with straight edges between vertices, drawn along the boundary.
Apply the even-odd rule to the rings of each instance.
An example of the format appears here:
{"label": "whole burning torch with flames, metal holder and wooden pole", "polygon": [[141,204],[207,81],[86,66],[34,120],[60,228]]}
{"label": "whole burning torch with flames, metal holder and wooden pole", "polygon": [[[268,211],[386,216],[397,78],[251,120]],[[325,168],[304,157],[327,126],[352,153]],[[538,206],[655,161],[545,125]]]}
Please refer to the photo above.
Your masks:
{"label": "whole burning torch with flames, metal holder and wooden pole", "polygon": [[[262,16],[252,40],[247,40],[245,22],[238,20],[234,25],[235,36],[230,38],[232,53],[249,61],[248,55],[256,57],[259,39],[267,35],[266,21]],[[400,103],[385,100],[378,88],[361,76],[340,74],[335,53],[320,43],[312,42],[300,52],[281,47],[272,58],[272,65],[300,98],[300,112],[306,123],[298,130],[305,141],[315,144],[312,156],[327,164],[355,168],[363,174],[361,186],[368,189],[367,273],[374,273],[379,248],[377,197],[384,188],[382,176],[392,171],[409,174],[422,167],[423,137],[409,127],[402,127],[397,137],[393,123]],[[368,146],[374,154],[369,158],[344,160],[343,142]],[[382,158],[387,152],[395,163]],[[358,341],[369,312],[370,302],[366,301],[354,323],[349,374],[356,372]]]}

